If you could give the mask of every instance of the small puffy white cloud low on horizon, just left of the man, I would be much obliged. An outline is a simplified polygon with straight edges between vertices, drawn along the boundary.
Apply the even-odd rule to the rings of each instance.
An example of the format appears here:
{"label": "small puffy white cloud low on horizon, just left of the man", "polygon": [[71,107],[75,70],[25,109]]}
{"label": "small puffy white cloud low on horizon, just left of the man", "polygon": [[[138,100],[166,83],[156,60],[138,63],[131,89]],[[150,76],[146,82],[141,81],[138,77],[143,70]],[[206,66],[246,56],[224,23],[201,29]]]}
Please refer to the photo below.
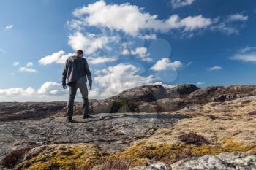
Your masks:
{"label": "small puffy white cloud low on horizon, just left of the man", "polygon": [[62,90],[61,84],[57,82],[45,82],[41,88],[37,90],[37,94],[40,96],[61,95],[63,93],[64,90]]}

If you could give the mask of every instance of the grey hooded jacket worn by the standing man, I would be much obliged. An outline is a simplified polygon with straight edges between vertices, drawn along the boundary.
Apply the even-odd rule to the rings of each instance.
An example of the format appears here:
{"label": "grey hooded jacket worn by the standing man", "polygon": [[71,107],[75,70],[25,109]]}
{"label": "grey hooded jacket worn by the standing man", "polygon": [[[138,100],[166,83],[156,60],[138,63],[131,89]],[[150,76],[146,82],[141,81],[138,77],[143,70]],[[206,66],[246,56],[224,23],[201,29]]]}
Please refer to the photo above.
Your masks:
{"label": "grey hooded jacket worn by the standing man", "polygon": [[62,72],[62,84],[66,84],[66,79],[67,85],[69,85],[70,82],[85,83],[86,77],[89,84],[91,84],[91,72],[86,59],[79,55],[67,58]]}

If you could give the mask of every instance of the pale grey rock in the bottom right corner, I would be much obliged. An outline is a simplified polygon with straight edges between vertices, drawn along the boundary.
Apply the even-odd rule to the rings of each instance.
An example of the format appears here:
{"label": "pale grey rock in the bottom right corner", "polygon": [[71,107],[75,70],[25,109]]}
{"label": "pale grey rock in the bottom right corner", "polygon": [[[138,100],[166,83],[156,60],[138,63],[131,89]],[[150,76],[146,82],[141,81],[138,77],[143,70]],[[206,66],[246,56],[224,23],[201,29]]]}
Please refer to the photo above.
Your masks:
{"label": "pale grey rock in the bottom right corner", "polygon": [[252,170],[256,169],[256,155],[242,152],[221,153],[217,156],[205,155],[200,158],[187,158],[171,165],[173,170]]}

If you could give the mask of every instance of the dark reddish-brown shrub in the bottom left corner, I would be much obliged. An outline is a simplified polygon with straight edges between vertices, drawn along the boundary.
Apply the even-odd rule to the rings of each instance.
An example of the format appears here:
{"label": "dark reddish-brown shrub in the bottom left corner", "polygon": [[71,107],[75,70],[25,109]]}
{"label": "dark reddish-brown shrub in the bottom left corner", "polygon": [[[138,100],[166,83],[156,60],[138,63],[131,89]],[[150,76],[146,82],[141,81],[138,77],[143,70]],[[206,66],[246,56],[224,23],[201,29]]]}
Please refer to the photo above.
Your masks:
{"label": "dark reddish-brown shrub in the bottom left corner", "polygon": [[2,159],[1,165],[9,169],[13,169],[13,167],[18,163],[18,161],[20,161],[20,158],[29,150],[31,150],[31,148],[23,148],[21,150],[14,150],[10,152],[10,154],[6,155]]}

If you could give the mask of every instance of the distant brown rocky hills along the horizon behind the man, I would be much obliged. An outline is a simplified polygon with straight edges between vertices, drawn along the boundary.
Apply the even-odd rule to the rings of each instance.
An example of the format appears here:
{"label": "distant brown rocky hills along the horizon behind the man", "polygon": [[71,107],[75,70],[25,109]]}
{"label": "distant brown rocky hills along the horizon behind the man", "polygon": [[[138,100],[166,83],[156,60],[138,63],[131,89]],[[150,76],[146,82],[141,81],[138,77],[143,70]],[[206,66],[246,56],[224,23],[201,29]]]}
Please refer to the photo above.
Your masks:
{"label": "distant brown rocky hills along the horizon behind the man", "polygon": [[[124,90],[104,100],[91,100],[91,114],[116,112],[170,112],[193,107],[195,104],[224,102],[256,95],[255,85],[231,85],[197,88],[195,85],[143,85]],[[0,121],[64,116],[66,102],[0,103]],[[81,115],[81,104],[75,104],[75,115]]]}

